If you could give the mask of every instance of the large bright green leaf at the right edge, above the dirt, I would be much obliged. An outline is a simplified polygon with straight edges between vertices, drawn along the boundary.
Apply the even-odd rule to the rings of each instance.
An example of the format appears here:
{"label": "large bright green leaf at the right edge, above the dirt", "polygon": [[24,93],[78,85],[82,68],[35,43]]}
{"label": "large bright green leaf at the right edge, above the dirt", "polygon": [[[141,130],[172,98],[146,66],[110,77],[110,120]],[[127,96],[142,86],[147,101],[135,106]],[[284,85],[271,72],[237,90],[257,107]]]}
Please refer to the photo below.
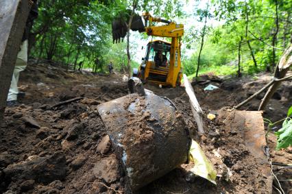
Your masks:
{"label": "large bright green leaf at the right edge, above the dirt", "polygon": [[286,119],[283,122],[282,128],[275,133],[278,137],[277,147],[279,150],[281,148],[287,148],[292,145],[292,119]]}

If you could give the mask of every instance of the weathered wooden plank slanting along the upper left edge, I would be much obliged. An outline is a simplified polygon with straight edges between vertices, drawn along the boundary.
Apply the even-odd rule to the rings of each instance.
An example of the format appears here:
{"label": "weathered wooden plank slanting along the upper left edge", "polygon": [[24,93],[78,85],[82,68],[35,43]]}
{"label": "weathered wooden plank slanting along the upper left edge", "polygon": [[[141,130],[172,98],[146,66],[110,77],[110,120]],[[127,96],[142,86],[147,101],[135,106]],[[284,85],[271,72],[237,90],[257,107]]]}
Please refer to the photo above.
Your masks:
{"label": "weathered wooden plank slanting along the upper left edge", "polygon": [[0,123],[21,45],[27,16],[31,8],[29,0],[0,0]]}

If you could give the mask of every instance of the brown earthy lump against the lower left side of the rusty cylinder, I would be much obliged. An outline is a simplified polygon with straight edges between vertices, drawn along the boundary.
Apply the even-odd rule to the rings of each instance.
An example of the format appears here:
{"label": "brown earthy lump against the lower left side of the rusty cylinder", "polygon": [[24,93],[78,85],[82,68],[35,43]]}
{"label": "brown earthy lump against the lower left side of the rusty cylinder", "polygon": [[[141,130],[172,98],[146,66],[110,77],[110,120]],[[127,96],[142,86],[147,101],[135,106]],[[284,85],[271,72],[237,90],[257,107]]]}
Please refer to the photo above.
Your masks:
{"label": "brown earthy lump against the lower left side of the rusty cylinder", "polygon": [[119,177],[119,162],[114,154],[103,158],[93,167],[95,178],[103,179],[107,183],[114,182]]}

